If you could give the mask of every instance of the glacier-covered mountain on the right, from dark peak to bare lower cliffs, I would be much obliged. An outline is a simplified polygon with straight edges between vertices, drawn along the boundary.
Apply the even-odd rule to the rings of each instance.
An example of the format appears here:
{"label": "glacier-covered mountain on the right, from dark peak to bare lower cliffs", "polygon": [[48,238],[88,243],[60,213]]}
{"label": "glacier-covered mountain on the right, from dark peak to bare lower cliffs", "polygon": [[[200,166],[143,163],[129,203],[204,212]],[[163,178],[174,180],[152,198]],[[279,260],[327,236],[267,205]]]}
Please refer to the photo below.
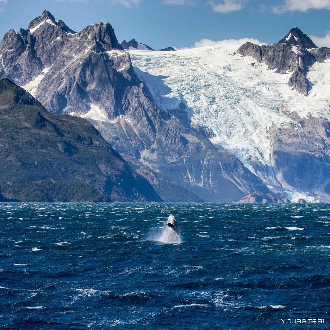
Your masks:
{"label": "glacier-covered mountain on the right, from dark peak to bare lower cliffs", "polygon": [[214,145],[271,189],[286,190],[293,200],[329,200],[330,49],[287,42],[129,52],[163,110],[184,103],[193,121],[213,130]]}

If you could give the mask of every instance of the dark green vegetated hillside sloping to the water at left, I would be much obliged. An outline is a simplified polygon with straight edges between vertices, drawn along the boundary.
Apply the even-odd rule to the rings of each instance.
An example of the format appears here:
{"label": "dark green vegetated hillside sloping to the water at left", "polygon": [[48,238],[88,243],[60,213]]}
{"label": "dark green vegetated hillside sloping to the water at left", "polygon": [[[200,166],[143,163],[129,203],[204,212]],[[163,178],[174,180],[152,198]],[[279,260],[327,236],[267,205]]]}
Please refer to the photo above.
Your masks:
{"label": "dark green vegetated hillside sloping to the water at left", "polygon": [[0,200],[162,201],[85,119],[0,80]]}

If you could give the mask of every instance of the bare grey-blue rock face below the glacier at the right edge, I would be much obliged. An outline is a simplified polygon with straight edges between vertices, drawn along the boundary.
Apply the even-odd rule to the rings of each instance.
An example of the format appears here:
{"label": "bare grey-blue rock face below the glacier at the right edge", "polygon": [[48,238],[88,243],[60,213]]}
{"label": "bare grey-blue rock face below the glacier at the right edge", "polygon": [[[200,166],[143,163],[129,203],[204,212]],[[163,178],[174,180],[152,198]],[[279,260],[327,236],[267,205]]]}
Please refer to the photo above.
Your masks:
{"label": "bare grey-blue rock face below the glacier at the right edge", "polygon": [[324,196],[330,192],[330,123],[300,119],[298,124],[273,127],[271,162],[284,188]]}

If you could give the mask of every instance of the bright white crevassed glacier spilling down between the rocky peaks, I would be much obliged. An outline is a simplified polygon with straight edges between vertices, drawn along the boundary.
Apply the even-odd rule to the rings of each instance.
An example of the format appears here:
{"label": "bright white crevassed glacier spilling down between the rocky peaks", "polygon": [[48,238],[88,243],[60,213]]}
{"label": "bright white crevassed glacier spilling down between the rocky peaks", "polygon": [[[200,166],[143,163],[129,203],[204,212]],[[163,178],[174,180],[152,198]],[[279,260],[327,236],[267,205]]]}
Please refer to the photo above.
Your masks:
{"label": "bright white crevassed glacier spilling down between the rocky peaks", "polygon": [[267,131],[301,117],[330,118],[330,62],[315,63],[314,84],[306,97],[288,86],[292,73],[269,70],[252,57],[235,54],[242,42],[178,51],[129,50],[139,78],[155,101],[175,109],[183,102],[189,115],[211,128],[212,142],[235,154],[252,172],[250,157],[270,164]]}

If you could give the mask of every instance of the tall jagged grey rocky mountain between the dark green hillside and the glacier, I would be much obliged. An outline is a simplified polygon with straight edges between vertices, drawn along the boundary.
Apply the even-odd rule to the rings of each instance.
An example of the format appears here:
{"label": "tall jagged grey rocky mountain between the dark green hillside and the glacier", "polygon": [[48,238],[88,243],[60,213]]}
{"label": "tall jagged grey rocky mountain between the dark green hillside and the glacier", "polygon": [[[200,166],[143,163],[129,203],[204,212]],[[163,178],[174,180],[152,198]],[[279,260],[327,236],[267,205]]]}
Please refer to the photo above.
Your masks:
{"label": "tall jagged grey rocky mountain between the dark green hillside and the glacier", "polygon": [[[16,82],[21,85],[42,75],[34,96],[50,112],[86,117],[117,152],[148,167],[150,178],[159,174],[158,182],[166,181],[167,187],[169,182],[180,186],[183,196],[190,194],[191,199],[197,196],[203,201],[232,202],[255,190],[269,192],[236,157],[215,149],[209,140],[212,132],[191,123],[184,115],[184,105],[178,115],[157,107],[109,23],[67,34],[63,22],[54,23],[54,18],[44,12],[30,26],[34,29],[44,21],[33,31],[33,37],[29,30],[23,30],[33,41],[27,39],[25,48],[18,43],[12,52],[30,49],[28,54],[35,66],[26,64],[17,75],[14,67],[21,59],[15,55],[3,71],[11,79],[17,76]],[[19,37],[14,31],[10,34],[14,40]],[[11,38],[5,38],[0,49]],[[53,49],[56,56],[50,54]],[[74,152],[69,146],[59,148]],[[139,171],[142,173],[145,167],[140,166]]]}

